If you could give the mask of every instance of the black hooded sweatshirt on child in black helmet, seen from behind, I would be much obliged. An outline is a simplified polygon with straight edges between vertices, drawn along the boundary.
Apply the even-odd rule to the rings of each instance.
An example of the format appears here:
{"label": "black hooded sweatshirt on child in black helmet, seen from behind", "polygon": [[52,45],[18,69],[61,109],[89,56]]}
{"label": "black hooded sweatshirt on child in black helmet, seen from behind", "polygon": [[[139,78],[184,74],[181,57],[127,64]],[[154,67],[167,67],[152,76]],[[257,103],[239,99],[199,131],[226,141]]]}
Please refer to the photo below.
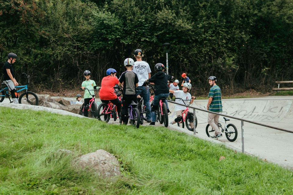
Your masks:
{"label": "black hooded sweatshirt on child in black helmet, seen from behind", "polygon": [[158,71],[155,75],[148,79],[149,83],[155,83],[155,95],[169,93],[168,80],[173,80],[174,77]]}

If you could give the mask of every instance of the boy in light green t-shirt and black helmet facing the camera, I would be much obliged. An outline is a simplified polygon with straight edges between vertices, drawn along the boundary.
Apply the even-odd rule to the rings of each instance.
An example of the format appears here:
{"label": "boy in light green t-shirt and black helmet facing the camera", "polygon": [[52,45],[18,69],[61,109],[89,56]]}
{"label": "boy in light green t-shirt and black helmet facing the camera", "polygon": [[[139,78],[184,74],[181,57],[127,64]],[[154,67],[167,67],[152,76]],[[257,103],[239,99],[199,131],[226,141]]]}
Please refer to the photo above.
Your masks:
{"label": "boy in light green t-shirt and black helmet facing the camera", "polygon": [[[83,75],[85,76],[85,81],[82,82],[81,89],[82,90],[85,90],[85,88],[88,89],[88,90],[85,90],[85,95],[83,96],[85,101],[85,103],[83,103],[83,106],[85,107],[84,114],[85,116],[88,116],[89,101],[92,99],[92,95],[90,94],[89,91],[96,89],[97,85],[95,81],[90,80],[91,72],[89,70],[85,70]],[[95,93],[92,92],[92,94],[95,94]]]}

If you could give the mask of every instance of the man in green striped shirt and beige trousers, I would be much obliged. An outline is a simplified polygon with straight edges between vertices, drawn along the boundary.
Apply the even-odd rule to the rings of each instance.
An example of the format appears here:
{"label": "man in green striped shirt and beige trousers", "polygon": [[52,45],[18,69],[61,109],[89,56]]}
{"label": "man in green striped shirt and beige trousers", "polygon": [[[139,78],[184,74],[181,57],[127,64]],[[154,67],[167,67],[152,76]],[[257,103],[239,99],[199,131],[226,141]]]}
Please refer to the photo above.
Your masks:
{"label": "man in green striped shirt and beige trousers", "polygon": [[[215,76],[208,77],[208,83],[210,84],[211,89],[208,93],[208,105],[207,110],[212,112],[222,112],[222,100],[221,100],[221,89],[218,85],[216,85],[217,78]],[[221,130],[218,127],[220,115],[208,113],[208,124],[215,129],[215,136],[211,138],[217,139],[222,137]]]}

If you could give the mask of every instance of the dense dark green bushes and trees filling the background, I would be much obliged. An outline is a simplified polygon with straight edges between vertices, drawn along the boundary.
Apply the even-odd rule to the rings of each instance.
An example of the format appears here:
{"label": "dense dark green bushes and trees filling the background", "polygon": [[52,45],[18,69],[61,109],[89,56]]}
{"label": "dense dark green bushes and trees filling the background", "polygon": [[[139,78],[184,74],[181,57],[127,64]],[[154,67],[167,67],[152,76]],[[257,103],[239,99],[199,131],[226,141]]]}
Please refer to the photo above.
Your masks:
{"label": "dense dark green bushes and trees filling the background", "polygon": [[99,83],[109,67],[143,49],[151,66],[165,63],[176,78],[187,72],[198,90],[207,77],[233,92],[292,79],[293,3],[290,0],[11,0],[0,2],[0,55],[20,56],[18,76],[34,87],[79,85],[92,71]]}

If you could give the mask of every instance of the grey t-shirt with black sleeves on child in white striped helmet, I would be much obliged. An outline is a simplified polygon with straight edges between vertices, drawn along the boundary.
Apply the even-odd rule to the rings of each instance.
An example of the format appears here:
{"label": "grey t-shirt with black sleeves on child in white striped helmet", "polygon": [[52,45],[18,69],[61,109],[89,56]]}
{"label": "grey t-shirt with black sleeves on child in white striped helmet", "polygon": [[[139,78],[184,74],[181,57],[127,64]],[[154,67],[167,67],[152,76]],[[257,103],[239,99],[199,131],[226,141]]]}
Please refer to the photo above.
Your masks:
{"label": "grey t-shirt with black sleeves on child in white striped helmet", "polygon": [[126,71],[122,73],[119,78],[119,82],[123,83],[123,94],[134,95],[135,92],[135,84],[138,83],[138,77],[136,73],[132,71]]}

